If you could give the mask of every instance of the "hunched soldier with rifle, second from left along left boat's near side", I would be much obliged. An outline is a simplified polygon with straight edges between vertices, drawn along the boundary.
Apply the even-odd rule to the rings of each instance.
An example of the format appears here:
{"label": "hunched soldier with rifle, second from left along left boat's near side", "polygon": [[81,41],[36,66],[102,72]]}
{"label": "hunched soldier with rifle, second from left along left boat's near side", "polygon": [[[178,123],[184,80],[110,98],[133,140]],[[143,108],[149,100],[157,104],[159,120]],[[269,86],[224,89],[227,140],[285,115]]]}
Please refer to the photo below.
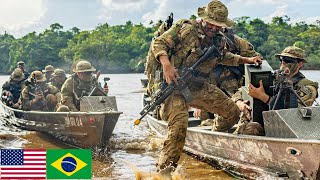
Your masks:
{"label": "hunched soldier with rifle, second from left along left boat's near side", "polygon": [[33,71],[20,98],[23,110],[54,111],[60,97],[59,89],[47,84],[41,71]]}

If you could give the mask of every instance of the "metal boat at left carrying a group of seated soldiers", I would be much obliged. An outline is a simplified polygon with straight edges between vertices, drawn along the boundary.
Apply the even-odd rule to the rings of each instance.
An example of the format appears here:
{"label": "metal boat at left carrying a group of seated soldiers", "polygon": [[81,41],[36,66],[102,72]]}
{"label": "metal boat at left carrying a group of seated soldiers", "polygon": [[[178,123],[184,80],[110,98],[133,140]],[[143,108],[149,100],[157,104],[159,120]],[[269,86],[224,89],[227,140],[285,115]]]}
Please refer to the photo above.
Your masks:
{"label": "metal boat at left carrying a group of seated soldiers", "polygon": [[10,124],[52,135],[66,144],[81,148],[108,145],[122,112],[113,96],[82,97],[80,112],[43,112],[13,109],[0,102]]}

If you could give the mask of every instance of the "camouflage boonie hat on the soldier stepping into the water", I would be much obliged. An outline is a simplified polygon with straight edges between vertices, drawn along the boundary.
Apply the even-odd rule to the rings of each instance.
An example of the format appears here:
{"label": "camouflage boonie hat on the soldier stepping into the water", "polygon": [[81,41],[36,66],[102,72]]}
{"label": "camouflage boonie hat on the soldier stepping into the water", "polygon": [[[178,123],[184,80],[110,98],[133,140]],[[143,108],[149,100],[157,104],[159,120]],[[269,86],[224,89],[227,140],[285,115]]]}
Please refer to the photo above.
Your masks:
{"label": "camouflage boonie hat on the soldier stepping into the water", "polygon": [[211,1],[206,7],[198,8],[198,16],[204,21],[221,27],[231,27],[234,22],[228,18],[228,8],[220,1]]}

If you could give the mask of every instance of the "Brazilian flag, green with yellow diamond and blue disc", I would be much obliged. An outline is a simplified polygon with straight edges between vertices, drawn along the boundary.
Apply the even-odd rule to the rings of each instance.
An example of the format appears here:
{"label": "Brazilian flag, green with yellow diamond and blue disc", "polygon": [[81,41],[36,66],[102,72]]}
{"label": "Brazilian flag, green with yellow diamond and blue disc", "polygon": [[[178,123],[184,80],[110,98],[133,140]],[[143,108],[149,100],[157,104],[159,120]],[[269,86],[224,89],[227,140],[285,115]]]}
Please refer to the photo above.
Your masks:
{"label": "Brazilian flag, green with yellow diamond and blue disc", "polygon": [[90,149],[48,149],[47,179],[91,179]]}

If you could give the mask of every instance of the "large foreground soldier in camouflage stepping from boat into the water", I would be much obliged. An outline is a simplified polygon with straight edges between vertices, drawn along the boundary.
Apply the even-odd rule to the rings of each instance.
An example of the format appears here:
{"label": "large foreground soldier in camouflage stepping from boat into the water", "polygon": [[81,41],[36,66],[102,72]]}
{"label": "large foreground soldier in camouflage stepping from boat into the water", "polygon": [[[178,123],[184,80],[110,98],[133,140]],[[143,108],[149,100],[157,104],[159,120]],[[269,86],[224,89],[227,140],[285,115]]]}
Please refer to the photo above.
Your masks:
{"label": "large foreground soldier in camouflage stepping from boat into the water", "polygon": [[[206,7],[199,8],[198,15],[201,20],[180,20],[154,40],[152,51],[163,67],[164,78],[168,84],[177,83],[178,69],[189,67],[196,62],[203,48],[215,45],[220,50],[225,49],[225,39],[219,32],[222,27],[233,24],[228,19],[227,7],[214,0]],[[170,60],[169,50],[172,50]],[[210,83],[209,74],[217,63],[238,66],[240,63],[261,62],[260,57],[241,57],[225,51],[222,58],[206,60],[197,69],[189,87],[193,96],[193,101],[189,104],[219,114],[225,121],[236,123],[240,115],[238,107],[223,91]],[[162,119],[168,120],[168,133],[157,162],[157,170],[168,173],[177,166],[188,126],[188,104],[179,91],[166,99],[163,112]]]}

